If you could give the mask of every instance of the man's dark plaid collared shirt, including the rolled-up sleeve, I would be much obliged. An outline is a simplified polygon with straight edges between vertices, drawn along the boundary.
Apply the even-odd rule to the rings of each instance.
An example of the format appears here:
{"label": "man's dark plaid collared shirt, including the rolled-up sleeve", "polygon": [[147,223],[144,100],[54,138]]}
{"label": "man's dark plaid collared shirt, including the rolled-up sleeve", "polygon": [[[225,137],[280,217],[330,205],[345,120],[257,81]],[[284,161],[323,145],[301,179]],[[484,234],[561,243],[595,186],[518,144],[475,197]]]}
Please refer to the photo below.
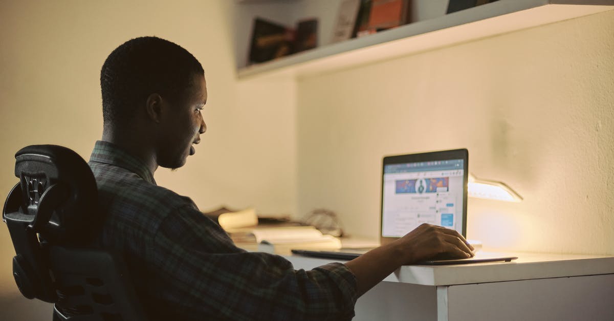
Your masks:
{"label": "man's dark plaid collared shirt, including the rolled-up sleeve", "polygon": [[89,165],[106,214],[99,245],[124,253],[151,320],[349,320],[348,267],[295,270],[282,256],[246,252],[191,199],[157,186],[139,159],[97,141]]}

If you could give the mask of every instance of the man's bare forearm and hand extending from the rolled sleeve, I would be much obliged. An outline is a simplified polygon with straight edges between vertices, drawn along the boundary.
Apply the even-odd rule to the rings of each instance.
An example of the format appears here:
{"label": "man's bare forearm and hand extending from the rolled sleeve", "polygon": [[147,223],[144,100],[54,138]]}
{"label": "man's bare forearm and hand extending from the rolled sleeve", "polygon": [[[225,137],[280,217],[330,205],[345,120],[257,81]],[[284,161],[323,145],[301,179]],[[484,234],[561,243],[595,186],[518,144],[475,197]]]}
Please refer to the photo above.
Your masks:
{"label": "man's bare forearm and hand extending from the rolled sleeve", "polygon": [[473,247],[457,231],[422,224],[402,238],[349,261],[346,266],[356,275],[360,296],[402,265],[429,260],[440,254],[470,258],[472,251]]}

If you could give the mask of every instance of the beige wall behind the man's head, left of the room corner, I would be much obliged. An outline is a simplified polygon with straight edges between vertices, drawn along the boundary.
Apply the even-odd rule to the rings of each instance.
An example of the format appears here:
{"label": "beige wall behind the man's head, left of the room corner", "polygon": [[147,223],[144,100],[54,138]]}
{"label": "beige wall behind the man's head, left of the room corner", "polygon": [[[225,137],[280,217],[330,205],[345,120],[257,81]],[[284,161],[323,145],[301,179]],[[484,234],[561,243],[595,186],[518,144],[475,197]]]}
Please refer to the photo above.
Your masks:
{"label": "beige wall behind the man's head, left of the room corner", "polygon": [[[99,70],[115,47],[155,35],[201,61],[208,79],[208,132],[185,168],[155,175],[203,210],[254,206],[293,212],[293,82],[237,82],[233,1],[0,1],[0,199],[16,183],[14,153],[40,143],[68,146],[85,159],[101,136]],[[11,277],[14,249],[0,224],[0,320],[45,320],[20,309]],[[19,316],[19,317],[17,317]]]}

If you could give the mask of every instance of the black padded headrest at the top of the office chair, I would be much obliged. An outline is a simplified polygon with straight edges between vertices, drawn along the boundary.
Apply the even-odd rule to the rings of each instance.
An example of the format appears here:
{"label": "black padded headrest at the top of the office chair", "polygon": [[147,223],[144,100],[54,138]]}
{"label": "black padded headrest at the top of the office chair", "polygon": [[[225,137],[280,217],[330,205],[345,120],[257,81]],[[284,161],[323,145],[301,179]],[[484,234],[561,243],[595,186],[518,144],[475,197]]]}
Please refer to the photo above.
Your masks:
{"label": "black padded headrest at the top of the office chair", "polygon": [[35,222],[35,231],[58,245],[85,245],[91,240],[103,217],[96,181],[85,160],[56,145],[26,146],[15,159],[20,212]]}

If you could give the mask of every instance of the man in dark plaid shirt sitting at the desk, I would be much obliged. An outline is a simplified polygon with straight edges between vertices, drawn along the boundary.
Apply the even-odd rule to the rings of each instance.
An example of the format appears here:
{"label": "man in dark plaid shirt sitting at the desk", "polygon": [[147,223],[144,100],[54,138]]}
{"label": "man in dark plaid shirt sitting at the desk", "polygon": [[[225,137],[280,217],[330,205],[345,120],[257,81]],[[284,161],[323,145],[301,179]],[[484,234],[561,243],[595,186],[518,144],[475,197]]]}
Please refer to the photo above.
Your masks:
{"label": "man in dark plaid shirt sitting at the desk", "polygon": [[157,186],[206,131],[203,68],[155,37],[125,42],[104,62],[103,138],[91,154],[101,210],[99,243],[120,250],[151,320],[349,320],[356,299],[403,264],[467,258],[451,229],[422,225],[348,263],[296,271],[281,256],[237,248],[188,197]]}

